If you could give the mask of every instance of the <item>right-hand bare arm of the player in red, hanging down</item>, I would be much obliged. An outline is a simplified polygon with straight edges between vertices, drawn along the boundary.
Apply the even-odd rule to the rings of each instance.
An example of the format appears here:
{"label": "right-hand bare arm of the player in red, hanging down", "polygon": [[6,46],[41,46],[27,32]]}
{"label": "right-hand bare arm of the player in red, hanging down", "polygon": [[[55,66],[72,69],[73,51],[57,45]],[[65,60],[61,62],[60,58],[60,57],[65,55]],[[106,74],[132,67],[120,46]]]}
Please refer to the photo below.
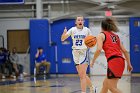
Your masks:
{"label": "right-hand bare arm of the player in red, hanging down", "polygon": [[124,48],[124,46],[122,45],[122,43],[120,43],[120,47],[121,47],[121,51],[123,52],[124,56],[125,56],[125,59],[126,59],[126,62],[127,62],[127,70],[129,72],[131,72],[133,70],[133,67],[131,65],[131,62],[130,62],[130,57],[129,57],[129,53],[128,51]]}

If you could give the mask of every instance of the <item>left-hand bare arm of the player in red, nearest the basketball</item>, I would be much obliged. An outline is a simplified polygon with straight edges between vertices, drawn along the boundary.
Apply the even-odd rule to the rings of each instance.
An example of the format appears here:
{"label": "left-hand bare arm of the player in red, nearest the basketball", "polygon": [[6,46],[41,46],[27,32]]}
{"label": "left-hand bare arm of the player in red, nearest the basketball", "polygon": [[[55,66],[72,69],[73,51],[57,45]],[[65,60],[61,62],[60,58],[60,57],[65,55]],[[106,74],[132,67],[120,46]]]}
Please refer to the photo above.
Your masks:
{"label": "left-hand bare arm of the player in red, nearest the basketball", "polygon": [[100,33],[97,36],[97,49],[96,49],[93,59],[91,61],[91,64],[90,64],[91,67],[93,66],[93,64],[95,63],[95,60],[98,58],[98,56],[101,53],[104,39],[105,39],[105,35],[103,33]]}

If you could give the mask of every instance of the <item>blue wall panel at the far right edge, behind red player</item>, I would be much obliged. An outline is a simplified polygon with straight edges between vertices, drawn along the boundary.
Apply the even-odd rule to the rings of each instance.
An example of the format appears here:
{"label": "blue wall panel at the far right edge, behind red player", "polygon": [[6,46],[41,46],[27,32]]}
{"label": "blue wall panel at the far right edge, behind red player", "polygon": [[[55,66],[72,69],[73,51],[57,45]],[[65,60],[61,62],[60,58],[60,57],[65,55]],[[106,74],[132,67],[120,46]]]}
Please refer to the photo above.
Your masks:
{"label": "blue wall panel at the far right edge, behind red player", "polygon": [[135,26],[135,21],[140,22],[140,18],[130,18],[130,58],[133,73],[140,73],[140,26]]}

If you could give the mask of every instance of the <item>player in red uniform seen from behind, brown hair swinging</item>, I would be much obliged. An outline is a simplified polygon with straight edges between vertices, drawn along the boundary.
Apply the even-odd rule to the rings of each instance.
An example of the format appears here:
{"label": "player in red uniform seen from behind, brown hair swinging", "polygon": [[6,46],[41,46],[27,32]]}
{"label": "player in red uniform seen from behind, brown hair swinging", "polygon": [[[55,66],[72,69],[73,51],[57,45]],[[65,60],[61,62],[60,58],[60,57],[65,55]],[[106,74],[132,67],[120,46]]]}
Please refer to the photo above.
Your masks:
{"label": "player in red uniform seen from behind, brown hair swinging", "polygon": [[[117,83],[123,74],[125,60],[127,61],[127,70],[131,72],[133,69],[130,63],[129,54],[120,43],[118,35],[114,33],[118,32],[118,28],[111,18],[103,20],[101,27],[102,32],[97,36],[97,49],[90,66],[93,66],[95,60],[103,49],[107,58],[108,68],[107,78],[105,78],[103,82],[101,93],[107,93],[108,90],[112,93],[121,93],[117,88]],[[124,54],[125,59],[122,54]]]}

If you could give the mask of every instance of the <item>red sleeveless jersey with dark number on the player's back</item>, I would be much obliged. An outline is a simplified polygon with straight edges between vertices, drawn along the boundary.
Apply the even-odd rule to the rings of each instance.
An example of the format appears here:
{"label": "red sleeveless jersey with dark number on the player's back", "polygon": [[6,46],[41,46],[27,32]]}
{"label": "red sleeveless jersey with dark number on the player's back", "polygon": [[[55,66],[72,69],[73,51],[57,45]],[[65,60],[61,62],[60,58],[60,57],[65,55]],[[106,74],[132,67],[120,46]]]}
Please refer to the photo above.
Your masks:
{"label": "red sleeveless jersey with dark number on the player's back", "polygon": [[119,36],[108,31],[104,31],[103,33],[105,35],[103,50],[105,51],[106,58],[109,59],[113,56],[122,57]]}

